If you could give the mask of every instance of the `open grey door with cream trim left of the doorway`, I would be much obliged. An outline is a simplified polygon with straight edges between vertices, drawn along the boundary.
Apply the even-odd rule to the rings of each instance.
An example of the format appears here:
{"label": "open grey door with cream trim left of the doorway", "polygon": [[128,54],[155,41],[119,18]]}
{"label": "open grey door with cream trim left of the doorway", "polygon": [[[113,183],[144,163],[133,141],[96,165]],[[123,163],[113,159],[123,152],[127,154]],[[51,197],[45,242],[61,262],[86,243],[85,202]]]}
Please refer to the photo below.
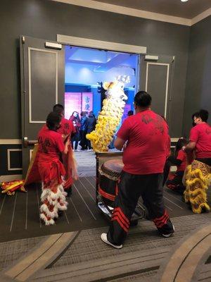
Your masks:
{"label": "open grey door with cream trim left of the doorway", "polygon": [[20,37],[23,178],[37,133],[54,104],[63,104],[65,51],[57,42]]}

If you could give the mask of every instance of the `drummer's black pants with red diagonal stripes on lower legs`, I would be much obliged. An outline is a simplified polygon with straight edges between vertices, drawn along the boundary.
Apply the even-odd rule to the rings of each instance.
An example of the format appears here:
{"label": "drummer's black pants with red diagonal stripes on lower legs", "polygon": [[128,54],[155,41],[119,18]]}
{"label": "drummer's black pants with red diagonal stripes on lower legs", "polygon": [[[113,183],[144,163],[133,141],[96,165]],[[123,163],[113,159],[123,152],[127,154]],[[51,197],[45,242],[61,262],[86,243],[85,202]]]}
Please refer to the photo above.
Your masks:
{"label": "drummer's black pants with red diagonal stripes on lower legs", "polygon": [[130,219],[140,196],[158,231],[160,233],[173,232],[172,223],[163,203],[162,173],[139,176],[122,171],[107,234],[110,243],[121,245],[124,242],[129,230]]}

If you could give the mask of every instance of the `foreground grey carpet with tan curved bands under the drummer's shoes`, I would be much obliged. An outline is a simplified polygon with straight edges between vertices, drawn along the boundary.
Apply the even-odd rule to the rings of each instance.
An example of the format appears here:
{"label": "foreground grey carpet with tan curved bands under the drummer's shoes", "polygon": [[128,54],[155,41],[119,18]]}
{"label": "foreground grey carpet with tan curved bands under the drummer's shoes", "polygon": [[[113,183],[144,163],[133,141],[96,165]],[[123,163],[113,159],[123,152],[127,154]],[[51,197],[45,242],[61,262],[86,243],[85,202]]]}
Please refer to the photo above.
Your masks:
{"label": "foreground grey carpet with tan curved bands under the drummer's shoes", "polygon": [[[186,255],[187,247],[190,245],[188,240],[191,237],[193,237],[193,240],[190,241],[193,243],[193,247],[191,247],[193,252],[194,246],[199,247],[199,244],[203,242],[200,238],[198,240],[194,238],[202,228],[206,226],[211,228],[209,225],[210,216],[211,214],[195,214],[173,218],[175,233],[170,238],[162,238],[151,221],[139,221],[138,226],[130,228],[127,240],[121,250],[115,250],[100,240],[101,233],[106,232],[107,227],[79,231],[65,249],[61,248],[56,257],[52,257],[52,259],[49,257],[49,264],[44,264],[44,260],[48,257],[46,248],[52,250],[56,247],[56,240],[51,241],[49,245],[51,236],[0,243],[0,269],[2,270],[0,281],[11,281],[7,278],[16,271],[17,274],[20,274],[15,277],[14,281],[26,281],[26,277],[29,275],[30,281],[34,282],[160,282],[159,272],[162,272],[162,266],[170,262],[175,251],[181,250],[181,255]],[[69,233],[56,236],[60,237],[65,234]],[[207,237],[203,233],[201,235],[202,239]],[[183,243],[187,244],[186,247],[183,247]],[[58,247],[59,245],[60,243],[58,243]],[[207,247],[209,248],[209,246],[208,242]],[[195,268],[198,268],[196,268],[196,281],[206,282],[209,281],[211,272],[211,264],[207,259],[209,253],[202,250],[200,255],[205,256],[196,263]],[[27,257],[31,257],[32,261],[27,262]],[[193,264],[194,262],[190,267]],[[171,271],[168,272],[171,273]],[[187,273],[189,274],[189,271]],[[21,276],[23,280],[20,280]],[[185,279],[182,281],[186,282]],[[165,282],[173,281],[165,280]],[[176,279],[174,282],[179,281]]]}

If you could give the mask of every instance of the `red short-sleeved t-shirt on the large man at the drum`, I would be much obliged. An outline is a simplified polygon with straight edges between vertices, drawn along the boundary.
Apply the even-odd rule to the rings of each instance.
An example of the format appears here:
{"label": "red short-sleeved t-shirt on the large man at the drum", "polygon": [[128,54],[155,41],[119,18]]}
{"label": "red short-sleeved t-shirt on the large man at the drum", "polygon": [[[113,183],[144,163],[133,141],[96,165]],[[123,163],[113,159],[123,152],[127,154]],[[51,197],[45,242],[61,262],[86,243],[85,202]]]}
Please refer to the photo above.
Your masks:
{"label": "red short-sleeved t-shirt on the large man at the drum", "polygon": [[128,140],[123,152],[123,171],[132,174],[162,173],[169,154],[168,125],[151,110],[124,120],[117,137]]}

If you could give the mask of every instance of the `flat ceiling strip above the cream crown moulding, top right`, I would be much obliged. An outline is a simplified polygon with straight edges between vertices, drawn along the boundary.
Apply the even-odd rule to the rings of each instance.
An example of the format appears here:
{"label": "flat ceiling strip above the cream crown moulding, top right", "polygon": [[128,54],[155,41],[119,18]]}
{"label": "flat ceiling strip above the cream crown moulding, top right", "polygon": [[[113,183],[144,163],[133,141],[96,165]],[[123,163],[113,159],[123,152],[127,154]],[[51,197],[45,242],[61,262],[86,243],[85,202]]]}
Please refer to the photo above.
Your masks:
{"label": "flat ceiling strip above the cream crown moulding, top right", "polygon": [[162,13],[180,18],[194,18],[211,8],[211,0],[96,0],[98,2]]}

